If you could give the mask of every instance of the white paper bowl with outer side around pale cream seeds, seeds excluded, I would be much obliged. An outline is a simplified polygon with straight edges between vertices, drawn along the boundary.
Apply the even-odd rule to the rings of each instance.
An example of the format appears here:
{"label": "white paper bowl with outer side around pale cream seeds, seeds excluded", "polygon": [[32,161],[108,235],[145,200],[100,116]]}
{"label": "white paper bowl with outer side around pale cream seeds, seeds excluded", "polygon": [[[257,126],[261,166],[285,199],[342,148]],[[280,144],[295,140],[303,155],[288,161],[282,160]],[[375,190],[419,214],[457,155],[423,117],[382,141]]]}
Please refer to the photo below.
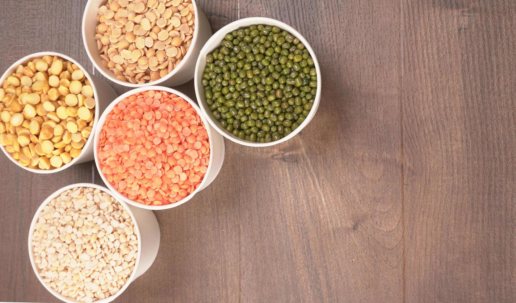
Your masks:
{"label": "white paper bowl with outer side around pale cream seeds, seeds excluded", "polygon": [[[68,303],[75,303],[77,301],[73,300],[70,297],[65,297],[58,292],[56,292],[52,287],[47,285],[41,276],[39,275],[39,268],[36,266],[35,260],[34,260],[34,250],[32,245],[32,236],[34,233],[35,225],[38,220],[38,215],[43,210],[43,207],[47,205],[52,199],[57,198],[62,192],[72,189],[75,187],[92,187],[96,189],[100,189],[108,194],[110,194],[113,198],[116,199],[115,195],[108,190],[107,188],[91,184],[91,183],[77,183],[65,186],[61,189],[56,190],[53,194],[49,196],[49,198],[46,198],[45,201],[41,204],[41,206],[36,211],[36,215],[34,215],[34,218],[32,220],[32,223],[30,224],[29,229],[29,238],[28,238],[28,250],[29,250],[29,258],[30,258],[30,264],[32,264],[34,272],[36,276],[38,277],[39,281],[43,286],[45,286],[46,290],[49,291],[51,294],[53,294],[56,298],[59,300],[68,302]],[[117,199],[118,200],[118,199]],[[138,238],[138,252],[136,254],[136,262],[134,265],[134,270],[131,273],[131,276],[127,279],[127,282],[122,286],[122,288],[114,295],[107,297],[102,300],[97,300],[95,302],[99,303],[106,303],[111,302],[116,297],[118,297],[121,293],[125,291],[125,289],[133,282],[136,278],[143,275],[144,272],[151,267],[152,263],[154,262],[154,259],[156,259],[156,255],[158,253],[159,249],[159,240],[160,240],[160,233],[159,233],[159,225],[158,221],[156,220],[156,217],[154,216],[154,213],[152,213],[151,210],[142,209],[142,208],[136,208],[132,207],[130,205],[125,204],[123,201],[118,200],[122,206],[127,209],[127,212],[129,215],[131,215],[131,218],[133,219],[134,226],[135,226],[135,232],[136,236]]]}

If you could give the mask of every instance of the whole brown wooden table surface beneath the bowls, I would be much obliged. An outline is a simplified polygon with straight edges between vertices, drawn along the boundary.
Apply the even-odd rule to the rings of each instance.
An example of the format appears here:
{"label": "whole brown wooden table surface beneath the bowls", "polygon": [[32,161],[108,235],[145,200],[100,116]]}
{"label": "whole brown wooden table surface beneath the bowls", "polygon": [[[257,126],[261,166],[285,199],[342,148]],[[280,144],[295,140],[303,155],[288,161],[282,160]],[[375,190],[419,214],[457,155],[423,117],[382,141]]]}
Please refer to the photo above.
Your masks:
{"label": "whole brown wooden table surface beneath the bowls", "polygon": [[[514,1],[197,1],[214,32],[265,16],[303,33],[320,106],[286,143],[225,140],[212,185],[155,211],[156,261],[117,302],[516,300]],[[0,71],[51,50],[99,75],[85,5],[2,0]],[[192,81],[176,88],[195,99]],[[56,189],[100,176],[4,155],[0,171],[0,301],[56,301],[30,266],[30,221]]]}

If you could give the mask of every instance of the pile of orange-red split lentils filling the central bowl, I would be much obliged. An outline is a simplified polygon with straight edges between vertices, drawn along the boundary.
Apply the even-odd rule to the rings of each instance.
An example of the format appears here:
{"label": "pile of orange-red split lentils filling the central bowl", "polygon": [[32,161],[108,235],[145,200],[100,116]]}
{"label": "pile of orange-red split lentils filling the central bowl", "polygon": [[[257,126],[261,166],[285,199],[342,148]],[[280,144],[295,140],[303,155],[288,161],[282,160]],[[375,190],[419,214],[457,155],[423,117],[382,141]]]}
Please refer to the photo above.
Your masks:
{"label": "pile of orange-red split lentils filling the central bowl", "polygon": [[183,98],[148,90],[124,98],[106,116],[98,157],[102,173],[121,194],[166,205],[201,184],[209,162],[208,134]]}

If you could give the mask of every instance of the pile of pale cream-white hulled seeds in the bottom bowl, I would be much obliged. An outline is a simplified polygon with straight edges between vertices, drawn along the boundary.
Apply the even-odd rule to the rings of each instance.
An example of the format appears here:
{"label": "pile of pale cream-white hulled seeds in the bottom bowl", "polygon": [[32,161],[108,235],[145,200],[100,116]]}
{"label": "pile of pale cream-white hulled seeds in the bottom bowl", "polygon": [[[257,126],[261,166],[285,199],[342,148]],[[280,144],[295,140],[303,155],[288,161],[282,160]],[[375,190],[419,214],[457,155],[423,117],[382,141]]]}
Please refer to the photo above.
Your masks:
{"label": "pile of pale cream-white hulled seeds in the bottom bowl", "polygon": [[92,302],[116,294],[133,272],[133,219],[109,194],[90,187],[61,193],[38,214],[32,236],[43,281],[63,296]]}

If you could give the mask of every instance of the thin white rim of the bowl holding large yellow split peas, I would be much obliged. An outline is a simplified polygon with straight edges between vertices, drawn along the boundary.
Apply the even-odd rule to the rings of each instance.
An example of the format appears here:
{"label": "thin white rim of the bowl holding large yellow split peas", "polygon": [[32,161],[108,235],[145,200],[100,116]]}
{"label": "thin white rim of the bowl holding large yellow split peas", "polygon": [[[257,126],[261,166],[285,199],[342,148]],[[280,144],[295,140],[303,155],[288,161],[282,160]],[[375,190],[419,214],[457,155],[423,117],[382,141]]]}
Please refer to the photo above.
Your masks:
{"label": "thin white rim of the bowl holding large yellow split peas", "polygon": [[[92,131],[91,131],[91,133],[93,133],[93,129],[95,129],[95,126],[99,120],[99,115],[100,115],[100,113],[99,113],[100,104],[99,104],[99,100],[98,100],[99,94],[95,87],[95,83],[94,83],[95,80],[91,78],[90,73],[82,65],[80,65],[75,59],[72,59],[71,57],[69,57],[65,54],[61,54],[61,53],[57,53],[57,52],[37,52],[37,53],[29,54],[29,55],[26,55],[23,58],[19,59],[14,64],[12,64],[4,72],[4,74],[2,75],[2,78],[0,78],[0,84],[4,83],[4,81],[7,79],[7,77],[9,77],[12,74],[12,71],[15,70],[15,68],[17,68],[19,65],[25,64],[31,59],[34,59],[37,57],[43,57],[46,55],[58,56],[62,59],[66,59],[66,60],[72,62],[73,64],[77,65],[80,68],[80,70],[82,70],[84,72],[86,79],[88,79],[90,81],[90,86],[91,86],[91,88],[93,88],[93,96],[95,99],[95,117],[93,118],[93,127],[92,127]],[[28,168],[27,166],[23,166],[20,164],[19,161],[14,160],[12,158],[12,156],[9,155],[8,151],[5,149],[5,146],[0,145],[0,149],[2,149],[2,151],[4,151],[4,154],[7,156],[7,158],[9,158],[12,162],[14,162],[16,165],[23,168],[24,170],[27,170],[27,171],[33,172],[33,173],[38,173],[38,174],[52,174],[52,173],[57,173],[62,170],[65,170],[65,169],[69,168],[70,166],[72,166],[75,162],[77,162],[80,159],[80,157],[82,157],[84,155],[84,153],[88,149],[88,147],[91,145],[91,141],[92,141],[91,138],[92,138],[92,134],[90,134],[90,137],[88,138],[88,140],[86,140],[86,143],[84,144],[84,146],[83,146],[82,150],[80,151],[80,154],[77,158],[73,158],[72,161],[70,161],[68,164],[62,165],[60,168],[55,168],[52,170],[31,169],[31,168]]]}

